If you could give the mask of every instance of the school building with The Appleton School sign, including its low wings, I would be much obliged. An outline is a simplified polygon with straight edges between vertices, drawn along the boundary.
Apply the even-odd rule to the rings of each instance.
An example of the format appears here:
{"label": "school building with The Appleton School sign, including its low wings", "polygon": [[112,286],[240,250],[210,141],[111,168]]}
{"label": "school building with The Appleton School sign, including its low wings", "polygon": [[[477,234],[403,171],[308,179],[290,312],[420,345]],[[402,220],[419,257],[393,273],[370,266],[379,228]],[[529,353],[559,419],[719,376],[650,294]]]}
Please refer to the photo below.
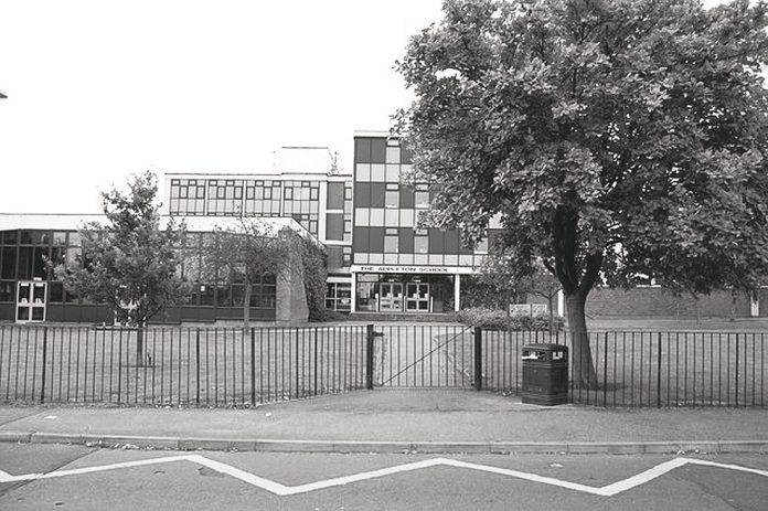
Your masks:
{"label": "school building with The Appleton School sign, including its low wings", "polygon": [[[412,156],[402,140],[361,131],[354,136],[351,173],[339,172],[326,148],[284,148],[270,173],[166,174],[164,214],[186,222],[179,272],[193,291],[189,302],[166,311],[160,321],[242,319],[243,283],[218,281],[203,270],[206,236],[239,216],[291,228],[324,246],[329,309],[366,315],[459,310],[462,278],[477,272],[500,225],[491,221],[487,239],[474,248],[462,245],[457,230],[423,228],[419,215],[429,209],[435,190],[413,182],[412,170]],[[77,228],[93,220],[103,219],[0,214],[0,320],[113,322],[105,307],[67,292],[44,263],[44,257],[74,260],[81,249]],[[307,319],[300,266],[291,265],[286,278],[265,277],[256,285],[249,304],[254,320]],[[768,308],[759,307],[768,301],[765,291],[739,301],[737,313],[768,315]],[[673,316],[684,309],[680,298],[663,301],[660,292],[595,289],[588,310],[600,316],[646,310],[649,316],[659,310]],[[669,304],[660,309],[662,301]],[[728,313],[723,305],[727,300],[710,301],[724,309],[722,315]],[[557,309],[563,313],[562,299]]]}

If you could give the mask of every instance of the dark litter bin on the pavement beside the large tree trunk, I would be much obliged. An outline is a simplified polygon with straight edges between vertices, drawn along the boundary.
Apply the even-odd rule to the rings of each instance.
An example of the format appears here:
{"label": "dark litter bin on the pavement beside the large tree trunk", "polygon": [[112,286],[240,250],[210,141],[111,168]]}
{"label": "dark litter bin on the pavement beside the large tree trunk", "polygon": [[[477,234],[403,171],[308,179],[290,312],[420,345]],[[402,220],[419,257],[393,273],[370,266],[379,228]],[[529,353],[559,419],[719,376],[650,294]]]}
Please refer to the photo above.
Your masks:
{"label": "dark litter bin on the pavement beside the large tree trunk", "polygon": [[523,403],[563,405],[568,402],[568,348],[563,344],[523,347]]}

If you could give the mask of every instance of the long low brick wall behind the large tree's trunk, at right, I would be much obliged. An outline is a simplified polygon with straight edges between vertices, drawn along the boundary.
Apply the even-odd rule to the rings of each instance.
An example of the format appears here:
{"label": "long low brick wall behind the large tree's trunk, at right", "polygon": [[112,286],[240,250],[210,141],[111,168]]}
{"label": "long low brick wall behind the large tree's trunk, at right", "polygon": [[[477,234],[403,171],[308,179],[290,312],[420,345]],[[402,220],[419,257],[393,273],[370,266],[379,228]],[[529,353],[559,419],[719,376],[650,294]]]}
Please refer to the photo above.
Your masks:
{"label": "long low brick wall behind the large tree's trunk, at right", "polygon": [[[660,287],[596,288],[587,297],[587,315],[696,317],[698,313],[702,317],[728,317],[730,302],[730,291],[715,291],[696,300],[690,294],[675,296]],[[738,318],[749,317],[748,294],[737,294],[735,315]],[[760,316],[768,317],[768,289],[760,290]]]}

